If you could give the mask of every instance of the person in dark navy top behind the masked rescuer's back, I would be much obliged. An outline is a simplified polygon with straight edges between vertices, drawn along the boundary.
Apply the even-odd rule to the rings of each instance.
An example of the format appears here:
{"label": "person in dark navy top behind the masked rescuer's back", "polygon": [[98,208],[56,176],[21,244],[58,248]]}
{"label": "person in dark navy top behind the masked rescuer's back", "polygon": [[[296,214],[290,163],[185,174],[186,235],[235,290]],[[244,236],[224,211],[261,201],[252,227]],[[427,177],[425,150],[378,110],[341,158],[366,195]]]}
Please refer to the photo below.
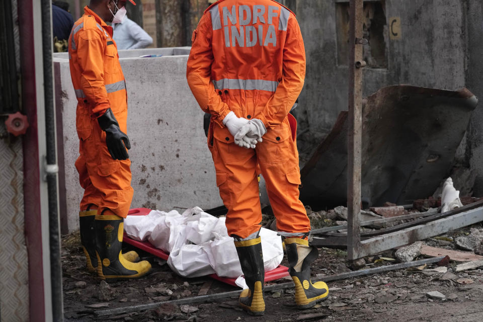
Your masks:
{"label": "person in dark navy top behind the masked rescuer's back", "polygon": [[52,38],[55,52],[67,51],[67,39],[69,39],[70,30],[74,25],[72,15],[68,13],[68,8],[69,4],[65,1],[52,3]]}

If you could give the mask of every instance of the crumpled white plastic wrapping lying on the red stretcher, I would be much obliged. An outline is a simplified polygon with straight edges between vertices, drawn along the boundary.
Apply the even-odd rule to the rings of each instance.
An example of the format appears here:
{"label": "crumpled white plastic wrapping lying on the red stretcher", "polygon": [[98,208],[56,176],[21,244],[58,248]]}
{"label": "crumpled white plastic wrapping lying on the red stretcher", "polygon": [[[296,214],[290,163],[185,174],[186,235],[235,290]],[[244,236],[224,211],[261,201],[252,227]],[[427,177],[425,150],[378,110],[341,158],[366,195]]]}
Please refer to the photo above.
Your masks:
{"label": "crumpled white plastic wrapping lying on the red stretcher", "polygon": [[[154,247],[169,253],[168,265],[185,277],[216,273],[235,278],[242,274],[233,238],[228,236],[225,218],[216,218],[199,207],[179,214],[152,210],[146,216],[127,216],[127,235],[136,240],[148,240]],[[282,262],[282,239],[275,231],[262,228],[262,251],[266,271]],[[238,282],[237,282],[238,284]],[[239,286],[245,284],[239,278]]]}

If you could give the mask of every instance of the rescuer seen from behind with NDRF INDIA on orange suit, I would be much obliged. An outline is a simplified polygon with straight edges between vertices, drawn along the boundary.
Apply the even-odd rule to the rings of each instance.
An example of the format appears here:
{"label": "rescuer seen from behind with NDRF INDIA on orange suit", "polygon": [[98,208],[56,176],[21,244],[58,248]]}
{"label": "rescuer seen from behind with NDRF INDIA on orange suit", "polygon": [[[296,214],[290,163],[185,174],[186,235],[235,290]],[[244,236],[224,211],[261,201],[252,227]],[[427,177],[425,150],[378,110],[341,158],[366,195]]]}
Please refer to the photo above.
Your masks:
{"label": "rescuer seen from behind with NDRF INDIA on orange suit", "polygon": [[289,111],[302,90],[305,51],[295,15],[272,0],[212,4],[193,32],[186,74],[201,109],[211,114],[208,147],[216,184],[249,287],[240,294],[241,306],[254,315],[265,311],[257,164],[284,237],[295,302],[299,308],[314,306],[329,289],[310,281],[318,252],[308,245],[310,220],[298,199]]}

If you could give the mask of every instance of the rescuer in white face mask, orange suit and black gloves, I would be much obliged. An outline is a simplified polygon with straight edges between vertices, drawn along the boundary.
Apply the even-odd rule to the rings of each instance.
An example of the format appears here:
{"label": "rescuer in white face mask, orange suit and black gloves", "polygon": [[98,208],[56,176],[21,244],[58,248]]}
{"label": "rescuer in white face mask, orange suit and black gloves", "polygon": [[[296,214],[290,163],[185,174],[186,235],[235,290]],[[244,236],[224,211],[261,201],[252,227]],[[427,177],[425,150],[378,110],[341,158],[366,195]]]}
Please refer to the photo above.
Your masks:
{"label": "rescuer in white face mask, orange suit and black gloves", "polygon": [[[129,0],[135,5],[133,0]],[[75,167],[85,189],[79,212],[87,268],[103,279],[134,278],[151,265],[136,252],[121,253],[123,221],[131,205],[127,149],[127,92],[112,27],[122,21],[125,0],[91,0],[68,40],[77,97],[79,157]]]}

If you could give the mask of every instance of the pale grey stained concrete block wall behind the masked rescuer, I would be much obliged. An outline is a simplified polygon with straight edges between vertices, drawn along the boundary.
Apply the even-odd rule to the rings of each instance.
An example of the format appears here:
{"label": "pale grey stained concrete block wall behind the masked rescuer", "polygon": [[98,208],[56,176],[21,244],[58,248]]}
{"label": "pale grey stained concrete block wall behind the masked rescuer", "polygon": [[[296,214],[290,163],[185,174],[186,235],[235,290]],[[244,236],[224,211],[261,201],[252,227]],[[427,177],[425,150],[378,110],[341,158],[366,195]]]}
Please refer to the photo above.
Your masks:
{"label": "pale grey stained concrete block wall behind the masked rescuer", "polygon": [[[169,211],[222,205],[215,171],[203,131],[203,112],[186,82],[189,47],[121,50],[128,92],[128,136],[131,141],[131,208]],[[162,57],[138,58],[146,54]],[[76,99],[68,57],[54,55],[57,122],[61,122],[65,189],[63,232],[78,228],[78,203],[83,189],[74,167],[78,156]],[[59,119],[60,118],[60,119]],[[60,165],[61,166],[61,165]],[[62,176],[60,176],[62,181]],[[62,205],[62,200],[61,200]],[[62,207],[61,207],[62,212]]]}

